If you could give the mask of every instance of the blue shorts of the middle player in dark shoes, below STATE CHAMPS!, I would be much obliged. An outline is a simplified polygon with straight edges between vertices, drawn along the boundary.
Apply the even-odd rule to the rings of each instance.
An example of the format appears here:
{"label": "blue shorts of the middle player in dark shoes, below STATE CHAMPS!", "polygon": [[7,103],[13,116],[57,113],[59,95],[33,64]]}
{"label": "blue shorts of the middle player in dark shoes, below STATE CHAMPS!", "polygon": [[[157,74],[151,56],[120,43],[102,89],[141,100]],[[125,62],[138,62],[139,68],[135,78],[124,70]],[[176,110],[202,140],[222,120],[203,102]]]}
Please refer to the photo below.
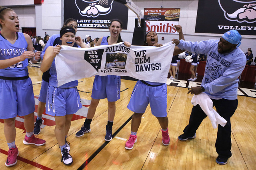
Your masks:
{"label": "blue shorts of the middle player in dark shoes, below STATE CHAMPS!", "polygon": [[120,76],[108,75],[98,76],[94,78],[92,86],[93,99],[108,98],[108,102],[116,102],[120,99]]}

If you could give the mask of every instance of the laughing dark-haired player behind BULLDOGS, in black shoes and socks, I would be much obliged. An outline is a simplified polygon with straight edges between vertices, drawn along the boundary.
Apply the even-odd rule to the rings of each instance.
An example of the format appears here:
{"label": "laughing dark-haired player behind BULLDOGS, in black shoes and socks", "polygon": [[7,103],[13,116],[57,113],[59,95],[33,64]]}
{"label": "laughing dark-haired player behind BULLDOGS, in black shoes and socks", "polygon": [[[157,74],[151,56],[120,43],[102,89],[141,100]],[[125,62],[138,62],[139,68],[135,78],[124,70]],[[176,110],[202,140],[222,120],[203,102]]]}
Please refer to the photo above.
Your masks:
{"label": "laughing dark-haired player behind BULLDOGS, in black shoes and socks", "polygon": [[[111,20],[108,29],[110,31],[110,36],[101,37],[96,43],[96,46],[112,45],[122,42],[120,35],[122,22],[120,20]],[[95,76],[92,87],[92,102],[88,109],[84,125],[82,125],[80,131],[76,133],[76,137],[81,137],[84,133],[89,133],[91,131],[90,124],[100,99],[108,98],[108,124],[106,125],[105,141],[112,140],[112,126],[116,114],[116,101],[120,99],[120,83],[120,76]]]}

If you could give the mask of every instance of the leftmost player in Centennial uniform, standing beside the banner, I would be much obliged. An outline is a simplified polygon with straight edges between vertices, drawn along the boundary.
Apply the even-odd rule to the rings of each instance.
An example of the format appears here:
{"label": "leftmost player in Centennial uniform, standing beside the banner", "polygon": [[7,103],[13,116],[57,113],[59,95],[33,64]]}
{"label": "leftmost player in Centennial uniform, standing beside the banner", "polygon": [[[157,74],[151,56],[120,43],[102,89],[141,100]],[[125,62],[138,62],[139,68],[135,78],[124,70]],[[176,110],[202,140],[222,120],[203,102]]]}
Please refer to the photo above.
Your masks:
{"label": "leftmost player in Centennial uniform, standing beside the banner", "polygon": [[41,146],[45,141],[33,135],[34,92],[28,77],[28,59],[36,63],[40,53],[33,52],[30,36],[20,33],[17,14],[0,6],[0,119],[4,119],[4,135],[9,147],[6,166],[17,163],[15,117],[24,116],[26,135],[23,143]]}

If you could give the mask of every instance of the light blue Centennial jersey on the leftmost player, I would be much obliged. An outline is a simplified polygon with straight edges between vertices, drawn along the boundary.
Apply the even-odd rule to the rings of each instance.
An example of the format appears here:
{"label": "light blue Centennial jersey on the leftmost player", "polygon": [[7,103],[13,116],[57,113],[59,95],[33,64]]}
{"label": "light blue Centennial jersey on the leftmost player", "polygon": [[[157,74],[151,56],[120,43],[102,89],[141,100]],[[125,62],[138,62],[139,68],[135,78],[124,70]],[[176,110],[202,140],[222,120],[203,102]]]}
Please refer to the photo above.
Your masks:
{"label": "light blue Centennial jersey on the leftmost player", "polygon": [[[0,33],[0,60],[11,59],[18,57],[27,51],[28,43],[23,33],[17,32],[17,40],[11,44]],[[28,76],[28,60],[20,61],[7,68],[0,69],[0,76],[4,77],[24,77]]]}

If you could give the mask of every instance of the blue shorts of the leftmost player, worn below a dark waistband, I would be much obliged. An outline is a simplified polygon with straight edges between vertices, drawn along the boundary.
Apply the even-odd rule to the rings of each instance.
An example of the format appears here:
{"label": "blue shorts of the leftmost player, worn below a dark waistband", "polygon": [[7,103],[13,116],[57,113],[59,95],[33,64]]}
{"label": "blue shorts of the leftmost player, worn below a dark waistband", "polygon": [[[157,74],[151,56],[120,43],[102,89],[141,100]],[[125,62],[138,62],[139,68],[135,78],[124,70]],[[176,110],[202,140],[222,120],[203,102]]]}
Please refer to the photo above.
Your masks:
{"label": "blue shorts of the leftmost player, worn below a dark waistband", "polygon": [[33,84],[25,80],[0,79],[0,119],[25,116],[35,110]]}

